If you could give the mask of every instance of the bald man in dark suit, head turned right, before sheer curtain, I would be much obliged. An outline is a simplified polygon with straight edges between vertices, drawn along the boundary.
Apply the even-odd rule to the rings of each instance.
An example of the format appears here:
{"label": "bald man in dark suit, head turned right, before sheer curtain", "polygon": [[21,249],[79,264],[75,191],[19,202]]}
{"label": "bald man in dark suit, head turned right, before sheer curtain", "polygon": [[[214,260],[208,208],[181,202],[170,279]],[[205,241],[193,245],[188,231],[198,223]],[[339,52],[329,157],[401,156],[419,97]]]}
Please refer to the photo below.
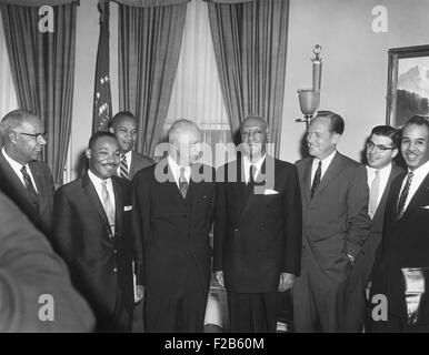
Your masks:
{"label": "bald man in dark suit, head turned right, before sheer curtain", "polygon": [[197,162],[201,142],[196,124],[176,121],[169,131],[168,156],[139,171],[132,181],[147,332],[203,328],[216,184],[213,170]]}

